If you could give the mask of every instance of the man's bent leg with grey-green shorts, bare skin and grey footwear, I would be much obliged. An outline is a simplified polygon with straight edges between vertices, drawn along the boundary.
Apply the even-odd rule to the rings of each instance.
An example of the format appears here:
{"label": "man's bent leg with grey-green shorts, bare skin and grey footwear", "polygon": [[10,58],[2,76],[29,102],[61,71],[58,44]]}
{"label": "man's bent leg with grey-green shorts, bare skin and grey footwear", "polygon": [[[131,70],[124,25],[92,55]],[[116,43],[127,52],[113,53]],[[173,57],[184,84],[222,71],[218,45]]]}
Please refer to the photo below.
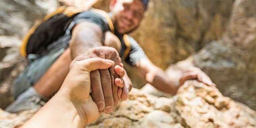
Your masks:
{"label": "man's bent leg with grey-green shorts, bare skin and grey footwear", "polygon": [[[69,49],[64,51],[62,49],[33,61],[20,74],[13,85],[13,94],[17,99],[5,109],[6,111],[19,113],[40,108],[47,100],[45,97],[50,97],[60,88],[71,62],[71,59],[68,59],[70,58]],[[36,85],[37,90],[33,85]]]}

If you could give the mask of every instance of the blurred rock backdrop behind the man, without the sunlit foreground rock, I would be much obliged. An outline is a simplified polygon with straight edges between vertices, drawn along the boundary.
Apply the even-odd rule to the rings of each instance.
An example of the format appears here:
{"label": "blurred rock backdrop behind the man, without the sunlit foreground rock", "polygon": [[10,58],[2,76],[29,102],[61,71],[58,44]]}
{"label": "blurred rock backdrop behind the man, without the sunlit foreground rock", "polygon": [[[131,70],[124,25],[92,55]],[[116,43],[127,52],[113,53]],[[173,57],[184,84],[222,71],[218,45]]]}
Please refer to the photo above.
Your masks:
{"label": "blurred rock backdrop behind the man, without the sunlit foreground rock", "polygon": [[[0,107],[13,97],[12,80],[27,62],[21,40],[35,22],[60,5],[108,10],[110,0],[1,0]],[[151,0],[140,27],[130,33],[149,59],[174,81],[194,65],[224,96],[256,110],[256,1]],[[126,65],[129,72],[136,72]],[[146,83],[129,75],[135,88]]]}

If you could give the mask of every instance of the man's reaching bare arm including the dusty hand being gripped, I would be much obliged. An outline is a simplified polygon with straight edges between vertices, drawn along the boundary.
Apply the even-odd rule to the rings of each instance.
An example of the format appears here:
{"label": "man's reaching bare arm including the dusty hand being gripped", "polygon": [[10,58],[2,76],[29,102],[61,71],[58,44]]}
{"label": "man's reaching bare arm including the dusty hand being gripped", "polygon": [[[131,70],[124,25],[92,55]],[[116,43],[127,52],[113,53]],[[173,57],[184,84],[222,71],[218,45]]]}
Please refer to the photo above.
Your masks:
{"label": "man's reaching bare arm including the dusty hand being gripped", "polygon": [[[114,71],[114,66],[121,64],[121,58],[116,49],[102,46],[104,44],[102,38],[103,30],[97,24],[80,22],[73,28],[70,49],[73,61],[99,57],[115,62],[109,69],[95,70],[90,73],[93,101],[96,102],[99,111],[110,113],[117,107],[120,98],[123,100],[127,98],[128,86],[118,91],[120,89],[118,89],[118,83],[115,83],[115,78],[121,77]],[[130,83],[130,79],[124,77],[123,82]],[[119,84],[122,83],[119,82]],[[122,96],[118,97],[120,93]]]}

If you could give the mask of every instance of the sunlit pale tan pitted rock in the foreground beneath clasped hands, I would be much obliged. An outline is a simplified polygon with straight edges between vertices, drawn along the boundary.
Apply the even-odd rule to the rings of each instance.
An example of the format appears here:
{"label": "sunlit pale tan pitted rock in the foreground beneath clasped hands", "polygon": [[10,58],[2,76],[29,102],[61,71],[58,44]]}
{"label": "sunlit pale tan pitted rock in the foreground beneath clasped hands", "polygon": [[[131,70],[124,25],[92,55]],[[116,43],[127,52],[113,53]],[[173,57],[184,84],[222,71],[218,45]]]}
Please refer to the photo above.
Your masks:
{"label": "sunlit pale tan pitted rock in the foreground beneath clasped hands", "polygon": [[[150,86],[150,85],[147,85]],[[150,87],[151,88],[151,87]],[[19,115],[1,111],[0,127],[19,126],[35,110]],[[6,118],[5,118],[6,117]],[[197,81],[187,81],[172,98],[157,97],[133,89],[127,101],[111,114],[103,114],[87,128],[242,128],[256,127],[256,112],[224,97],[217,88]]]}

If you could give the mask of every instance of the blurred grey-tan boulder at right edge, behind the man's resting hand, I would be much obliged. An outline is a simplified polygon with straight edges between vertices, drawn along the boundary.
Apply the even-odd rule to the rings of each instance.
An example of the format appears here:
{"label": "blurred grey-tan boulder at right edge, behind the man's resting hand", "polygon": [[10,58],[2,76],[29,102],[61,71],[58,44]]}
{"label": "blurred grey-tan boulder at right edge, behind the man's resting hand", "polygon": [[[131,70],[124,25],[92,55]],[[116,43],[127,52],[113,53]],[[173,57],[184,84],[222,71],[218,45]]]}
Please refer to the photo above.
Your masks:
{"label": "blurred grey-tan boulder at right edge, behind the man's resting hand", "polygon": [[171,65],[167,72],[184,70],[191,65],[199,67],[223,95],[256,109],[255,6],[254,0],[235,1],[223,36],[187,60]]}

